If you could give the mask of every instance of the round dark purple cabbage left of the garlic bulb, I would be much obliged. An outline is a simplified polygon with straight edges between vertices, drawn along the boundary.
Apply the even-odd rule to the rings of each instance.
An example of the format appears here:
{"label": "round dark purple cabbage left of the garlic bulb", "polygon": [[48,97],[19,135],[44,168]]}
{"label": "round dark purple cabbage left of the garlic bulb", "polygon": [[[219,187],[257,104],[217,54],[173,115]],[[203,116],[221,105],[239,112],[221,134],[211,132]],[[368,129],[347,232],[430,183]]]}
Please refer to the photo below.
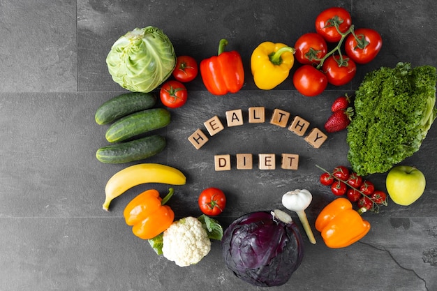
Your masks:
{"label": "round dark purple cabbage left of the garlic bulb", "polygon": [[225,230],[221,249],[226,266],[235,276],[262,287],[286,283],[304,257],[297,225],[280,210],[237,218]]}

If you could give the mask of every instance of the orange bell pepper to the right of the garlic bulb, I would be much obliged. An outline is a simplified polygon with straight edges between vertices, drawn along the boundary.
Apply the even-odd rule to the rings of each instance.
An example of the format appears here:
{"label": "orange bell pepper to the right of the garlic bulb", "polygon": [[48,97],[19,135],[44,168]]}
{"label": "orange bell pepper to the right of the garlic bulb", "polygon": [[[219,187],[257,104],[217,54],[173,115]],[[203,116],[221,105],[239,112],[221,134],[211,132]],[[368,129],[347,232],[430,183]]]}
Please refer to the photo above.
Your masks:
{"label": "orange bell pepper to the right of the garlic bulb", "polygon": [[370,223],[364,221],[359,211],[352,209],[348,199],[340,197],[320,212],[316,230],[321,232],[329,248],[344,248],[362,239],[369,232]]}

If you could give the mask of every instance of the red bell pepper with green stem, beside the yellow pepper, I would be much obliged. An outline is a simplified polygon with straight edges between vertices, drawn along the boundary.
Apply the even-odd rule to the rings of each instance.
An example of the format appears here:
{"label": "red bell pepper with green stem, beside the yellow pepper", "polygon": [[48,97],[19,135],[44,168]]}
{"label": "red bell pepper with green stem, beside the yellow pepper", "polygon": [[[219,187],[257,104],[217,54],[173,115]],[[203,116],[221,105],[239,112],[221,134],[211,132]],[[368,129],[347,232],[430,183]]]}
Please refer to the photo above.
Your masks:
{"label": "red bell pepper with green stem, beside the yellow pepper", "polygon": [[207,90],[214,95],[237,93],[244,84],[244,68],[240,54],[232,50],[224,52],[228,40],[218,45],[218,55],[200,62],[200,75]]}

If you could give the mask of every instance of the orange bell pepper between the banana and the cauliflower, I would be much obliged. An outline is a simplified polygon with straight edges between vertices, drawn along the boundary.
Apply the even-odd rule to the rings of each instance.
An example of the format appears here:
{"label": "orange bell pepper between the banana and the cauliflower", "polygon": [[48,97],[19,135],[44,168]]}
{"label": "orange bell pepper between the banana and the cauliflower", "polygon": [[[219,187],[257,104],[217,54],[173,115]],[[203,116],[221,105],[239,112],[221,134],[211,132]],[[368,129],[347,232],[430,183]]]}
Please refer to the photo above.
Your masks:
{"label": "orange bell pepper between the banana and the cauliflower", "polygon": [[161,199],[159,192],[147,190],[126,205],[123,215],[127,225],[133,225],[132,232],[140,239],[153,239],[173,223],[175,213],[164,205],[173,195],[173,188]]}

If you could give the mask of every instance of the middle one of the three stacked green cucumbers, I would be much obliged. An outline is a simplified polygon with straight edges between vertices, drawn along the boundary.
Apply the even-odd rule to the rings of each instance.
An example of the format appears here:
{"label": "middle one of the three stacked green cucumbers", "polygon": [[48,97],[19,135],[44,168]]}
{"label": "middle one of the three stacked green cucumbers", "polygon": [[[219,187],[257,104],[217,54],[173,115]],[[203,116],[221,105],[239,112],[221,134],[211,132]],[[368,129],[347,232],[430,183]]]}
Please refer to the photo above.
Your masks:
{"label": "middle one of the three stacked green cucumbers", "polygon": [[108,142],[122,142],[168,124],[170,124],[170,112],[165,108],[142,110],[115,121],[106,130],[105,137]]}

